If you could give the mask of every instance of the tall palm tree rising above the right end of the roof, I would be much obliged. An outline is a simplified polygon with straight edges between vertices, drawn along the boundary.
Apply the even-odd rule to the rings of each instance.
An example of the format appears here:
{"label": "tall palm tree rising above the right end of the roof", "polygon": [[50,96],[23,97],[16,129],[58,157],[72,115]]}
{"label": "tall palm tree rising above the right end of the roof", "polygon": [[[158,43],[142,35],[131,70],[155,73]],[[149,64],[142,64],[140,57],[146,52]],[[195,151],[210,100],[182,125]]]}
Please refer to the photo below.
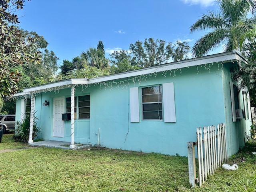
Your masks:
{"label": "tall palm tree rising above the right end of the roof", "polygon": [[255,17],[247,18],[254,0],[217,0],[220,12],[209,11],[190,27],[190,32],[210,30],[192,47],[194,56],[203,56],[224,44],[224,51],[237,49],[240,37],[254,28]]}

